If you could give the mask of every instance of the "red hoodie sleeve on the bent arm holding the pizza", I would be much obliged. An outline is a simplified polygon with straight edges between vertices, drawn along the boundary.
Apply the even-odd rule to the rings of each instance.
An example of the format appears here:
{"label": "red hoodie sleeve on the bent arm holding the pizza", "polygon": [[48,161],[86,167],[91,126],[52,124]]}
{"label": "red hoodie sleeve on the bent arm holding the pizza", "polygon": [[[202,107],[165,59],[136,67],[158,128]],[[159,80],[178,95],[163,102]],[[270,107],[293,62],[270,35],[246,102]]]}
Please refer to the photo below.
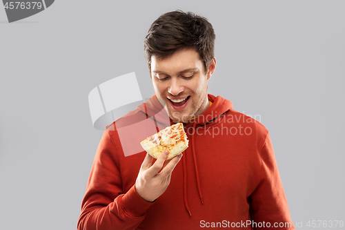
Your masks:
{"label": "red hoodie sleeve on the bent arm holding the pizza", "polygon": [[92,164],[77,229],[135,229],[153,203],[143,200],[134,184],[123,193],[117,148],[106,130]]}

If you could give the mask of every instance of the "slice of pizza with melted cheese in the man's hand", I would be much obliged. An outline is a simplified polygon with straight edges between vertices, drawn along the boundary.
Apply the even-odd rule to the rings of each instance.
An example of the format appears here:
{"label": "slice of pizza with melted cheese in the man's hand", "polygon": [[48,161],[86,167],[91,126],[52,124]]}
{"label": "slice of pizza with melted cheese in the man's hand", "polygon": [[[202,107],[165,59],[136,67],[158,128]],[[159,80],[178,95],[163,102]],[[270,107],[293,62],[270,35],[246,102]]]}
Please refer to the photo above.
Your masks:
{"label": "slice of pizza with melted cheese in the man's hand", "polygon": [[169,151],[168,158],[171,159],[188,148],[187,135],[184,132],[182,123],[173,124],[140,142],[145,151],[156,159],[164,150]]}

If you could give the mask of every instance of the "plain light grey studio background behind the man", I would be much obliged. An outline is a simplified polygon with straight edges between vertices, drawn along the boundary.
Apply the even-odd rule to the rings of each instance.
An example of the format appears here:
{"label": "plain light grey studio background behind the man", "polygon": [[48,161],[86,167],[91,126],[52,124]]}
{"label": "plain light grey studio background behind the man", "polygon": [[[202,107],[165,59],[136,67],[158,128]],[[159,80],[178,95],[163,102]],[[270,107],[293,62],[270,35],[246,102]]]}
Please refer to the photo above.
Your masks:
{"label": "plain light grey studio background behind the man", "polygon": [[17,23],[0,8],[0,229],[76,229],[103,134],[88,93],[135,72],[150,97],[142,43],[176,9],[213,23],[209,93],[261,116],[293,222],[345,220],[345,1],[78,0]]}

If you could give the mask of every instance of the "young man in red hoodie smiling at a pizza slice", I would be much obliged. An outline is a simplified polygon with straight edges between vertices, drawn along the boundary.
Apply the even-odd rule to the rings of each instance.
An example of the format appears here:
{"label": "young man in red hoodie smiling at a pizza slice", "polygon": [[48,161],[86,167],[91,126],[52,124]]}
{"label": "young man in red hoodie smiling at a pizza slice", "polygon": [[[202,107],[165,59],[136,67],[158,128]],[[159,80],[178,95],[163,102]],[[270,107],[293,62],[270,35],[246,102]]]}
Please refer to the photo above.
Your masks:
{"label": "young man in red hoodie smiling at a pizza slice", "polygon": [[[214,41],[207,19],[190,12],[168,12],[152,23],[144,51],[155,96],[107,126],[78,229],[295,229],[267,129],[207,93]],[[170,124],[157,115],[155,99]],[[168,161],[164,151],[155,162],[144,150],[126,155],[121,128],[148,117],[159,130],[183,122],[186,151]],[[128,145],[137,144],[141,130]]]}

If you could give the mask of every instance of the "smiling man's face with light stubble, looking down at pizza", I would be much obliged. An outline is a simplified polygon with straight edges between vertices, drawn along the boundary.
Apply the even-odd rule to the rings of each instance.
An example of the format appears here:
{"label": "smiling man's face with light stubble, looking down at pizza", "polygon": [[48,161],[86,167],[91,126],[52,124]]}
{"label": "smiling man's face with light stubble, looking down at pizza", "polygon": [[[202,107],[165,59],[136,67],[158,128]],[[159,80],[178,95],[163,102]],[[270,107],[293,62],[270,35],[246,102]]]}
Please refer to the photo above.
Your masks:
{"label": "smiling man's face with light stubble, looking down at pizza", "polygon": [[174,122],[188,122],[209,107],[207,81],[215,70],[215,58],[205,74],[204,64],[194,49],[177,50],[170,57],[151,57],[153,88]]}

